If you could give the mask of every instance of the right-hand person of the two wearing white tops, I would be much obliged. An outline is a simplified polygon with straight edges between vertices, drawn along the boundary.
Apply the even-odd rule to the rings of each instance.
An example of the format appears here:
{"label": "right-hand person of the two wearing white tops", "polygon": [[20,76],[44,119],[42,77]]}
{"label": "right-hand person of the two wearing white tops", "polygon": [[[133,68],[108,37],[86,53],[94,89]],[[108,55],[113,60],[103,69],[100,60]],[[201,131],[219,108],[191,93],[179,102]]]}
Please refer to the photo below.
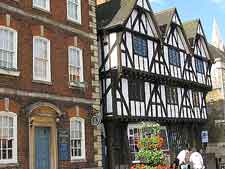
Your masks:
{"label": "right-hand person of the two wearing white tops", "polygon": [[193,164],[193,169],[205,168],[202,155],[195,150],[193,150],[193,153],[190,156],[190,162]]}

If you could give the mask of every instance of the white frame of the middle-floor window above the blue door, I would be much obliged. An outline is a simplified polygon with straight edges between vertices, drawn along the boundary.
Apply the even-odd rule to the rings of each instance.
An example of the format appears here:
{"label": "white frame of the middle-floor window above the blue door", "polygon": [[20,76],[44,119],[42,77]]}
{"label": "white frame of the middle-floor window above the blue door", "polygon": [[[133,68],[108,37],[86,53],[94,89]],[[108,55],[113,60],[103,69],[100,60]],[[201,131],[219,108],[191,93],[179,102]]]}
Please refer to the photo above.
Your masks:
{"label": "white frame of the middle-floor window above the blue door", "polygon": [[[47,42],[47,59],[48,59],[48,64],[47,64],[47,68],[46,68],[46,79],[44,78],[39,78],[39,77],[35,77],[35,40],[44,40]],[[51,44],[50,44],[50,40],[46,39],[44,37],[40,37],[40,36],[34,36],[33,37],[33,80],[34,81],[43,81],[43,82],[51,82],[51,55],[50,55],[50,51],[51,51]]]}

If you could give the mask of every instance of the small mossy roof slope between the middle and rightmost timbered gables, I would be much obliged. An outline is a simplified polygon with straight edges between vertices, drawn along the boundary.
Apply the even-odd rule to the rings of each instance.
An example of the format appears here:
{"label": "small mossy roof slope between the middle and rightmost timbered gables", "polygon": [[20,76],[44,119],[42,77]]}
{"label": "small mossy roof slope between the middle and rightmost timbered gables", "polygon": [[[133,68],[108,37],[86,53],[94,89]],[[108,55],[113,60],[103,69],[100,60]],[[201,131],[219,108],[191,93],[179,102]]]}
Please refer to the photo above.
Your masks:
{"label": "small mossy roof slope between the middle and rightmost timbered gables", "polygon": [[198,32],[199,19],[184,22],[183,27],[186,32],[187,38],[192,39],[195,38]]}

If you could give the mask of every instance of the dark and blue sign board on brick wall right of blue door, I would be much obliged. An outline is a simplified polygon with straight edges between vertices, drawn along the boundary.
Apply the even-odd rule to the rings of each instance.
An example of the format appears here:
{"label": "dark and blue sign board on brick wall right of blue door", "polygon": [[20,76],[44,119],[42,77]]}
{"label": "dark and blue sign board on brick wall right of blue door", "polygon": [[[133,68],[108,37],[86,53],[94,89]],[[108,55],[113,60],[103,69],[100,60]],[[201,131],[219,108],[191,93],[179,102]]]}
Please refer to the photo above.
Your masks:
{"label": "dark and blue sign board on brick wall right of blue door", "polygon": [[58,129],[59,160],[70,160],[70,130]]}

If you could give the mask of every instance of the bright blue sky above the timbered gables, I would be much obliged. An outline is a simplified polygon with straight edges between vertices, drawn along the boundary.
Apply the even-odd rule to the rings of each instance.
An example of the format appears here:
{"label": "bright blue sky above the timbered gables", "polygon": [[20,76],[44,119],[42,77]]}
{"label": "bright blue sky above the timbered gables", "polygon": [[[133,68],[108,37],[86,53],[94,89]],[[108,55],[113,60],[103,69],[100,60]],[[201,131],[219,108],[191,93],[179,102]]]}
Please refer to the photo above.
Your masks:
{"label": "bright blue sky above the timbered gables", "polygon": [[150,0],[154,12],[176,7],[183,22],[201,19],[208,42],[211,42],[213,18],[216,18],[225,41],[225,0]]}

